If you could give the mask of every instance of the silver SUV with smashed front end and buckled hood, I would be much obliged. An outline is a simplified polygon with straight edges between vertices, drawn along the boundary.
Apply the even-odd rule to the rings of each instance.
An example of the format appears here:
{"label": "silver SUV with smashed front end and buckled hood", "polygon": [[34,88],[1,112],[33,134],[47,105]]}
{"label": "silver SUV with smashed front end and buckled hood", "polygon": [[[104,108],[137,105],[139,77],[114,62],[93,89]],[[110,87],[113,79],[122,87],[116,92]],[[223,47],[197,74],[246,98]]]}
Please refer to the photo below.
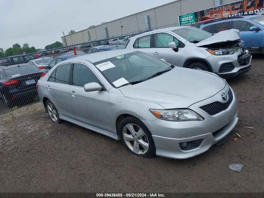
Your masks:
{"label": "silver SUV with smashed front end and buckled hood", "polygon": [[137,49],[166,62],[233,78],[251,69],[252,55],[242,48],[235,29],[215,35],[194,27],[157,29],[129,39],[127,49]]}

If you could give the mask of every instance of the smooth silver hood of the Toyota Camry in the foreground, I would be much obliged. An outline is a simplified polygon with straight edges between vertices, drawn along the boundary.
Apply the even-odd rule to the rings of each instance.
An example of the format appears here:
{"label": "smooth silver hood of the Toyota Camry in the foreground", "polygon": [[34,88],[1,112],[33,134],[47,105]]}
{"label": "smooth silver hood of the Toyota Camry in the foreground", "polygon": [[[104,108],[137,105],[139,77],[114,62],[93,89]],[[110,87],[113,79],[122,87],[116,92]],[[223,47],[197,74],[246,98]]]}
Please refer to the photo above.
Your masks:
{"label": "smooth silver hood of the Toyota Camry in the foreground", "polygon": [[216,74],[195,69],[174,69],[144,82],[120,88],[129,98],[160,104],[165,109],[187,108],[224,89]]}

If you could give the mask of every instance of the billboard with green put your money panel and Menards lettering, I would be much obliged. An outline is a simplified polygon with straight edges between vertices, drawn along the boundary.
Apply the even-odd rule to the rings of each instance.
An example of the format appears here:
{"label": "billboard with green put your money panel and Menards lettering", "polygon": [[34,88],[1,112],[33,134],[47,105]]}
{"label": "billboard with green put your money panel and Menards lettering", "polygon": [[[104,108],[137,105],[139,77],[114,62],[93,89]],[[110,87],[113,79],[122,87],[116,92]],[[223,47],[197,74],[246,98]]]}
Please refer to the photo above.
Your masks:
{"label": "billboard with green put your money panel and Menards lettering", "polygon": [[179,24],[181,26],[191,25],[205,20],[252,14],[261,11],[264,11],[264,0],[242,0],[194,13],[180,15]]}

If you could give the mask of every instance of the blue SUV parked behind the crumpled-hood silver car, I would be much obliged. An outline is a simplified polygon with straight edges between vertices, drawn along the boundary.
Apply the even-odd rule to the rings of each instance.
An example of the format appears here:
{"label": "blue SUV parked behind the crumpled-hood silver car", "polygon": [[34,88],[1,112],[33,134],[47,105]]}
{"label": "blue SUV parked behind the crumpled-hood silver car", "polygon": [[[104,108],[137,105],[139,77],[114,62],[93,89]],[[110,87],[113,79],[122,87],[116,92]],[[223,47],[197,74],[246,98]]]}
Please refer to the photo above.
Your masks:
{"label": "blue SUV parked behind the crumpled-hood silver car", "polygon": [[245,42],[243,47],[250,49],[251,53],[264,54],[264,15],[251,14],[216,19],[205,22],[200,29],[213,34],[238,29],[240,38]]}

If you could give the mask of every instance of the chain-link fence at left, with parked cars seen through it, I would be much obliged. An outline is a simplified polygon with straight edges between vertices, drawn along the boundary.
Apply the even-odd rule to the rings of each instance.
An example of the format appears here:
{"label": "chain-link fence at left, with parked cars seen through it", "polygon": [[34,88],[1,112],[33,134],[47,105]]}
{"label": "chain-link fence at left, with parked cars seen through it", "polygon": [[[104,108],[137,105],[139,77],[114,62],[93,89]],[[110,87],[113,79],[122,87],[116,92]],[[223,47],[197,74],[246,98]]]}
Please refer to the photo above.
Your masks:
{"label": "chain-link fence at left, with parked cars seen through it", "polygon": [[124,49],[133,35],[18,54],[0,59],[0,114],[38,102],[37,81],[57,63],[76,56]]}

